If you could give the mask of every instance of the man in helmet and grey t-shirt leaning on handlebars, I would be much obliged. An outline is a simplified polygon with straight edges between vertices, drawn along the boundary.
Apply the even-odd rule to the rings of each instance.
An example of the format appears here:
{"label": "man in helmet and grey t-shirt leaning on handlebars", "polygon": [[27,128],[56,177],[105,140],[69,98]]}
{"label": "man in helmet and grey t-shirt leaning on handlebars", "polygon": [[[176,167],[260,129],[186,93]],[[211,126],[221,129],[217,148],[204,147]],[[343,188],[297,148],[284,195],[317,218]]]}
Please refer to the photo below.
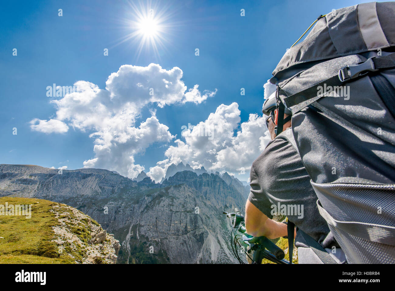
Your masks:
{"label": "man in helmet and grey t-shirt leaning on handlebars", "polygon": [[[298,248],[299,263],[322,263],[299,230],[318,242],[336,263],[342,263],[346,260],[344,253],[318,212],[317,197],[297,149],[289,140],[281,138],[281,134],[276,137],[278,109],[275,99],[273,93],[263,105],[263,113],[270,114],[266,123],[272,141],[252,163],[251,189],[246,202],[246,231],[253,236],[266,236],[271,239],[286,236],[287,225],[271,219],[274,214],[285,212],[288,221],[297,227],[295,246]],[[283,128],[288,133],[288,130],[292,130],[291,114],[286,108]]]}

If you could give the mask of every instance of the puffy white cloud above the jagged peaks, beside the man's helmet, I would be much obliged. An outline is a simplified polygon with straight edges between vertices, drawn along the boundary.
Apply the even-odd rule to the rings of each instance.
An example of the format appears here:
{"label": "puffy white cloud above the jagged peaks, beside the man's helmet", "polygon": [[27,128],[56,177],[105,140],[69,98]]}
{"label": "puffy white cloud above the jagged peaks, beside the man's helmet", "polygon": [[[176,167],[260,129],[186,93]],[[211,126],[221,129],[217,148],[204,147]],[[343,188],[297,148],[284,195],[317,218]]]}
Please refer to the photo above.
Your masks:
{"label": "puffy white cloud above the jagged peaks, beside the man's helmet", "polygon": [[155,180],[160,180],[170,164],[180,162],[194,168],[204,166],[207,170],[237,174],[244,170],[248,174],[252,162],[271,139],[265,117],[250,114],[247,121],[240,122],[237,103],[221,104],[205,121],[182,132],[184,140],[175,140],[175,146],[169,146],[165,152],[167,159],[157,163],[155,172],[151,168],[148,176],[155,175]]}

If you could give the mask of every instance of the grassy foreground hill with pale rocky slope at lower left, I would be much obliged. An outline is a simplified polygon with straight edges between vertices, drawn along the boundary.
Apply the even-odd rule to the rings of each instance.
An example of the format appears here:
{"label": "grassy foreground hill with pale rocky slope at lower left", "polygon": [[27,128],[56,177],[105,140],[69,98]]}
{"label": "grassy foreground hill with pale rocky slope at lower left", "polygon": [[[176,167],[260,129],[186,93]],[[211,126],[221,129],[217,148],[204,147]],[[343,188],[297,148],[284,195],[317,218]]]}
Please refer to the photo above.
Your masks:
{"label": "grassy foreground hill with pale rocky slope at lower left", "polygon": [[[2,197],[0,205],[6,206],[0,207],[0,263],[113,264],[117,261],[119,241],[75,208],[48,200],[16,197]],[[22,215],[10,215],[21,205]]]}

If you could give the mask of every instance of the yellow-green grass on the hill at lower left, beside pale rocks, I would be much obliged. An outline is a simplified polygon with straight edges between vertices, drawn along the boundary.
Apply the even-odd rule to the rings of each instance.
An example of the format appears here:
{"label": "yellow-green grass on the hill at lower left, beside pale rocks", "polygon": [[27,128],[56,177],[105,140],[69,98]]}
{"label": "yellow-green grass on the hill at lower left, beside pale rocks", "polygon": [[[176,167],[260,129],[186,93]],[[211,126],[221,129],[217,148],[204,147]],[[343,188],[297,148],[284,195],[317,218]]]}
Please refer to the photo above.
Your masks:
{"label": "yellow-green grass on the hill at lower left, beside pale rocks", "polygon": [[58,203],[42,199],[0,198],[0,204],[6,202],[32,204],[32,217],[0,215],[0,237],[4,237],[0,238],[0,263],[74,263],[66,253],[60,254],[56,243],[51,242],[55,236],[52,227],[60,223],[49,210]]}

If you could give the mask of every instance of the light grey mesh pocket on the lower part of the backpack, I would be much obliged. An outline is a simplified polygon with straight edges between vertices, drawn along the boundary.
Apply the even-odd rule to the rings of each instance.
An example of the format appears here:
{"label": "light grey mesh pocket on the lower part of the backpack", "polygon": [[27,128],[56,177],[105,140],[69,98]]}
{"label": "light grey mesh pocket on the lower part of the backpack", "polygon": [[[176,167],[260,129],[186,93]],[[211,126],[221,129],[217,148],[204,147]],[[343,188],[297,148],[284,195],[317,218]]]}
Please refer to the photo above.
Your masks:
{"label": "light grey mesh pocket on the lower part of the backpack", "polygon": [[348,263],[395,263],[395,184],[311,184]]}

